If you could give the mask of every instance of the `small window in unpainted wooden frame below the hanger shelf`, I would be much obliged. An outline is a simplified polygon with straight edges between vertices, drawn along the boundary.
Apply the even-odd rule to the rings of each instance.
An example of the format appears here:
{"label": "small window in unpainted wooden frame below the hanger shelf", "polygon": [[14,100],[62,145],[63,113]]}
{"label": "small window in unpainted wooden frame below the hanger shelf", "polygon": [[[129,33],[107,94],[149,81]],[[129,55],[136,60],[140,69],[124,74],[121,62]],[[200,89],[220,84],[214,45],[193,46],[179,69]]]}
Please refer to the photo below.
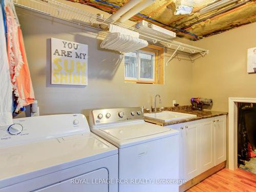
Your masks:
{"label": "small window in unpainted wooden frame below the hanger shelf", "polygon": [[163,48],[151,45],[125,53],[124,76],[126,82],[163,84]]}

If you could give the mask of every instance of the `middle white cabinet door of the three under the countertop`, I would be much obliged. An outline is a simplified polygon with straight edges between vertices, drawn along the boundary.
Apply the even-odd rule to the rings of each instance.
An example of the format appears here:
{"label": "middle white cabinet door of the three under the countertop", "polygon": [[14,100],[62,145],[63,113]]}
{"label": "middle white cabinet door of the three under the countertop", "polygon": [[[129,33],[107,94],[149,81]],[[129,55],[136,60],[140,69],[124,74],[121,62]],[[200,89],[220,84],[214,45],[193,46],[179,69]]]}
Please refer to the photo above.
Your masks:
{"label": "middle white cabinet door of the three under the countertop", "polygon": [[215,165],[214,122],[206,120],[200,124],[200,173]]}

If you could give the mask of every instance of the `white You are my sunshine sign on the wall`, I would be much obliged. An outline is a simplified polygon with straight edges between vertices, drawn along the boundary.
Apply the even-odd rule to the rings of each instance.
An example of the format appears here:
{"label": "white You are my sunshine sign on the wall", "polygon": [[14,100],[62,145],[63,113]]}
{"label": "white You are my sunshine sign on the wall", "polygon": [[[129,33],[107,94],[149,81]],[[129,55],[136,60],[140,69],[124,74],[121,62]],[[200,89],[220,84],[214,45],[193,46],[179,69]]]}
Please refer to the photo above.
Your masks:
{"label": "white You are my sunshine sign on the wall", "polygon": [[88,45],[51,38],[52,84],[88,85]]}

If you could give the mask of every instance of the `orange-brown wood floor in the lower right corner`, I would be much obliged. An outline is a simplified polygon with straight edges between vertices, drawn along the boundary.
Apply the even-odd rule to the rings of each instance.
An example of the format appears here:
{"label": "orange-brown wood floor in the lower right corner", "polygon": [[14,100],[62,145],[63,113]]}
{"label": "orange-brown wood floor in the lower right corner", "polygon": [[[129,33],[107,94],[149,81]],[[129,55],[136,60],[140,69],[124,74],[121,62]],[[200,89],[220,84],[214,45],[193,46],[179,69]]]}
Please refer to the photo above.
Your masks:
{"label": "orange-brown wood floor in the lower right corner", "polygon": [[186,190],[194,191],[256,191],[256,175],[240,168],[232,171],[221,169],[216,174],[206,178],[197,185]]}

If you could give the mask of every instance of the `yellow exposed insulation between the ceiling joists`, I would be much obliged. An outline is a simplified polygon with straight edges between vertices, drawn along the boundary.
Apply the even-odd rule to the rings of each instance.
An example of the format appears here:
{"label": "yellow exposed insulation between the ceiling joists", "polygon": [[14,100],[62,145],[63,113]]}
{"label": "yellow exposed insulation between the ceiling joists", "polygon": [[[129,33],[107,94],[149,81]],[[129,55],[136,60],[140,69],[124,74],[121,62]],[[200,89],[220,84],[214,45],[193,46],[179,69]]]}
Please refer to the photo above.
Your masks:
{"label": "yellow exposed insulation between the ceiling joists", "polygon": [[[68,1],[74,1],[74,0],[68,0]],[[116,1],[102,0],[102,1],[121,7],[129,0],[116,0]],[[235,27],[239,27],[241,25],[256,22],[256,1],[255,0],[254,1],[252,0],[251,2],[245,5],[242,5],[236,9],[232,9],[231,11],[228,11],[213,17],[212,15],[219,13],[220,11],[223,11],[227,8],[230,8],[236,5],[237,3],[233,3],[219,10],[214,10],[209,13],[200,15],[199,11],[201,8],[207,6],[207,4],[209,3],[213,3],[217,1],[214,1],[214,0],[204,0],[204,1],[203,0],[194,0],[194,1],[156,0],[151,6],[148,6],[146,9],[140,12],[141,14],[151,17],[164,25],[153,22],[150,19],[146,19],[138,15],[136,15],[136,17],[147,20],[148,22],[156,24],[160,27],[164,27],[168,30],[172,30],[177,33],[177,36],[184,37],[187,39],[192,39],[192,40],[196,40],[196,39],[193,38],[191,35],[175,30],[172,27],[185,29],[190,33],[194,33],[198,35],[199,37],[206,37],[206,36],[217,34]],[[241,0],[238,3],[241,3],[242,1],[243,0]],[[96,7],[96,6],[95,7],[112,14],[115,12],[115,10],[118,10],[118,8],[99,3],[95,0],[75,0],[75,2],[80,2],[85,4],[89,2],[92,4],[100,5],[101,7]],[[179,4],[194,7],[193,12],[189,15],[174,15],[175,9]],[[90,6],[93,6],[93,5],[90,5]],[[106,7],[108,9],[105,9],[103,7]],[[212,18],[208,18],[208,17],[212,17]],[[135,18],[131,18],[131,20],[135,22],[138,21],[138,19],[135,19]],[[195,24],[196,22],[201,20],[203,21]],[[172,27],[168,27],[166,25],[172,26]],[[190,26],[190,27],[187,27],[187,26]]]}

